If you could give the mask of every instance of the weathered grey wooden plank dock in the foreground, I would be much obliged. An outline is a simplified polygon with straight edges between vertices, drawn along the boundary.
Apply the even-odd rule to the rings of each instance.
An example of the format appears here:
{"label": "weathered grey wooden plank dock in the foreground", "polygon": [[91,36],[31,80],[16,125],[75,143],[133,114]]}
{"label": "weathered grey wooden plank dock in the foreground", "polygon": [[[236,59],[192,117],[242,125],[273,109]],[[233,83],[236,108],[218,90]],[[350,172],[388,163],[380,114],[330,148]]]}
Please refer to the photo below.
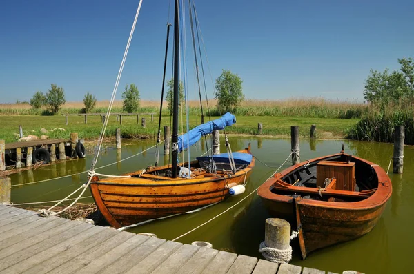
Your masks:
{"label": "weathered grey wooden plank dock in the foreground", "polygon": [[326,272],[0,205],[0,273]]}

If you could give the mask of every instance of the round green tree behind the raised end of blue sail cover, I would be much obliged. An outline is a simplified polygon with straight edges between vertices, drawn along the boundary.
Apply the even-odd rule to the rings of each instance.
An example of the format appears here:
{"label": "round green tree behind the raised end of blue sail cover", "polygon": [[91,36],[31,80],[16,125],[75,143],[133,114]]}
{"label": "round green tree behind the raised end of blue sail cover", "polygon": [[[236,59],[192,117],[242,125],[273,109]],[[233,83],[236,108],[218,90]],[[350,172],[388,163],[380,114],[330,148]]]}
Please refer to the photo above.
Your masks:
{"label": "round green tree behind the raised end of blue sail cover", "polygon": [[242,83],[239,75],[231,73],[230,70],[221,72],[215,83],[215,98],[220,110],[227,112],[231,107],[237,107],[244,100]]}

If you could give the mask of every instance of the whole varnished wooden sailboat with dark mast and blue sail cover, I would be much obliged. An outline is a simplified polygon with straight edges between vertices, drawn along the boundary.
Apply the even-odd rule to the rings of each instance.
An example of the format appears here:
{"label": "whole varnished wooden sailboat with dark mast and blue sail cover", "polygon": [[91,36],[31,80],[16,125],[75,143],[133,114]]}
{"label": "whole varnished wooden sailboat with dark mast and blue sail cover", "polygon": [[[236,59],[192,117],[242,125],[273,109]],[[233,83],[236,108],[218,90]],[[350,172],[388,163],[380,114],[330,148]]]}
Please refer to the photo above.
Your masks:
{"label": "whole varnished wooden sailboat with dark mast and blue sail cover", "polygon": [[[174,79],[179,79],[178,17],[179,1],[175,1]],[[178,94],[179,81],[174,81],[172,164],[128,173],[125,175],[128,177],[99,179],[95,176],[90,182],[92,197],[99,211],[115,228],[186,213],[220,202],[229,195],[231,187],[245,184],[250,177],[255,166],[250,144],[248,148],[232,153],[227,139],[228,153],[199,157],[190,163],[177,163],[179,152],[213,130],[224,129],[235,123],[234,115],[226,113],[220,119],[201,124],[178,137]]]}

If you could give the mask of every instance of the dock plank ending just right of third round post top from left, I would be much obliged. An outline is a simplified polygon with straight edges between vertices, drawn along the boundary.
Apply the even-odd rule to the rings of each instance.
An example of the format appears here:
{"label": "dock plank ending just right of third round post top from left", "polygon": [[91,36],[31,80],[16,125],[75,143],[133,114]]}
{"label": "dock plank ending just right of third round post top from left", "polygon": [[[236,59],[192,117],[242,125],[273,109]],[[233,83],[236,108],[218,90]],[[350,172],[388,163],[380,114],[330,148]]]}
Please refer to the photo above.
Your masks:
{"label": "dock plank ending just right of third round post top from left", "polygon": [[180,274],[199,274],[204,271],[204,268],[213,260],[217,253],[219,251],[213,248],[200,248],[177,272]]}

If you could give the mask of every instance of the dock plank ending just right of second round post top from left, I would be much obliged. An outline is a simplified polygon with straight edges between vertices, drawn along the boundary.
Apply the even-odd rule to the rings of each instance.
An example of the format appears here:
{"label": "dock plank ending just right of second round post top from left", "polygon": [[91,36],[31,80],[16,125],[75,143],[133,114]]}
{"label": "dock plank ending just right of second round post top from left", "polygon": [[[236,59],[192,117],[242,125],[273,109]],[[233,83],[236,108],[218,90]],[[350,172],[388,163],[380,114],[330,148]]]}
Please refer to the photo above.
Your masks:
{"label": "dock plank ending just right of second round post top from left", "polygon": [[111,264],[101,274],[126,273],[133,266],[144,260],[145,257],[155,251],[161,244],[166,242],[165,239],[157,239],[150,237],[146,242],[122,256],[117,262]]}

